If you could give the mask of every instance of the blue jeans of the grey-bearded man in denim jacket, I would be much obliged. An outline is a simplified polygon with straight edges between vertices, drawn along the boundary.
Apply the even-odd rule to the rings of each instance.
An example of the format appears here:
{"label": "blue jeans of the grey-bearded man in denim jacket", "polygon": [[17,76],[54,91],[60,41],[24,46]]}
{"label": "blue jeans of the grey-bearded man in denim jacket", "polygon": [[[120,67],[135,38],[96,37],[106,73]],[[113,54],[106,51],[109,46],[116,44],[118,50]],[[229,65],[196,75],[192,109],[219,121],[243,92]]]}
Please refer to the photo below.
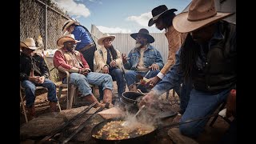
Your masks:
{"label": "blue jeans of the grey-bearded man in denim jacket", "polygon": [[[130,85],[132,85],[132,84],[134,84],[136,82],[139,82],[139,79],[136,78],[137,74],[141,74],[143,77],[145,77],[145,75],[146,75],[145,78],[153,78],[159,72],[160,72],[160,70],[150,70],[150,73],[146,75],[147,72],[139,72],[139,71],[134,71],[134,70],[127,70],[126,74],[125,74],[126,84],[129,87]],[[147,93],[149,91],[146,86],[139,85],[137,88],[142,90],[143,93]]]}

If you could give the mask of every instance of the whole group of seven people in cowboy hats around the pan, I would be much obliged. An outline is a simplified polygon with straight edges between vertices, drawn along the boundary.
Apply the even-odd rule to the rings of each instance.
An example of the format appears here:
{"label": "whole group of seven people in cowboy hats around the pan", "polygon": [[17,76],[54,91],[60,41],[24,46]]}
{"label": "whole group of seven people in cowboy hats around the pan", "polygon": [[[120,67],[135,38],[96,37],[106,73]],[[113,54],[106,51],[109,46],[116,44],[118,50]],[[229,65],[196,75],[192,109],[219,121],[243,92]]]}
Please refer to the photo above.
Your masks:
{"label": "whole group of seven people in cowboy hats around the pan", "polygon": [[[118,85],[118,98],[122,97],[126,86],[130,91],[147,93],[138,106],[148,108],[154,106],[154,102],[166,90],[178,88],[183,105],[180,122],[213,114],[222,102],[227,101],[230,91],[236,86],[236,26],[222,20],[234,13],[217,12],[214,0],[192,0],[188,11],[178,15],[174,11],[177,10],[168,10],[165,5],[158,6],[152,10],[153,18],[149,21],[149,26],[155,23],[159,30],[166,28],[169,42],[166,64],[157,48],[150,45],[154,38],[145,28],[130,34],[136,43],[126,56],[112,45],[116,38],[114,35],[103,34],[96,48],[86,27],[74,20],[65,22],[63,36],[57,41],[59,49],[53,59],[62,82],[66,82],[63,71],[70,72],[70,83],[78,87],[85,101],[97,102],[95,107],[105,106],[106,103],[114,106],[113,81]],[[181,36],[185,36],[184,39]],[[175,50],[172,42],[178,46],[173,46]],[[26,38],[20,47],[20,81],[25,88],[26,107],[31,118],[35,116],[35,86],[48,89],[50,110],[56,111],[56,86],[48,79],[46,62],[33,53],[37,50],[34,39]],[[141,78],[148,81],[142,83]],[[99,100],[92,93],[90,84],[98,86]],[[235,101],[228,98],[228,116],[230,111],[235,111],[235,106],[230,102]],[[233,115],[236,117],[236,114]],[[186,123],[179,126],[179,130],[183,135],[196,138],[208,120]]]}

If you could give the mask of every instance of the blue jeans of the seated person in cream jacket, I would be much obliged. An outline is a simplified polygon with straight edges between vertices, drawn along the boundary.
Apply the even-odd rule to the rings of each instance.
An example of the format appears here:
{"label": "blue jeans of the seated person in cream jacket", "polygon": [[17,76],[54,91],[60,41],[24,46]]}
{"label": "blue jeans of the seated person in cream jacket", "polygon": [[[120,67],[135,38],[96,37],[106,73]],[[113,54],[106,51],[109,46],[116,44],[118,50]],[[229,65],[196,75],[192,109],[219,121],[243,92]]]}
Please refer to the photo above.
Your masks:
{"label": "blue jeans of the seated person in cream jacket", "polygon": [[[120,98],[122,93],[126,90],[126,80],[124,78],[124,75],[122,73],[122,70],[119,68],[110,69],[110,75],[112,77],[113,81],[117,81],[118,85],[118,97]],[[98,86],[99,90],[99,99],[103,99],[103,90],[102,86]]]}

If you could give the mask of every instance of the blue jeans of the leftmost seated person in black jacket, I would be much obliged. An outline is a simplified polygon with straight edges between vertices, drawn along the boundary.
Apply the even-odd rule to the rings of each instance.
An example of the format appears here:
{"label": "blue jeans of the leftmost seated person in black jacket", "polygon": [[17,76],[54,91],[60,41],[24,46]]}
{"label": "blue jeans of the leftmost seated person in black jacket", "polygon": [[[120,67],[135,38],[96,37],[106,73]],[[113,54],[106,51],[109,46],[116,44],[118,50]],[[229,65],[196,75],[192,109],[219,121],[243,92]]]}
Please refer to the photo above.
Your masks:
{"label": "blue jeans of the leftmost seated person in black jacket", "polygon": [[58,98],[56,97],[56,85],[54,82],[50,81],[50,79],[46,78],[45,82],[42,84],[30,82],[29,80],[24,80],[22,82],[22,87],[25,89],[25,95],[26,95],[26,107],[30,107],[34,105],[35,100],[35,87],[36,86],[42,86],[46,87],[48,90],[47,98],[50,102],[58,102]]}

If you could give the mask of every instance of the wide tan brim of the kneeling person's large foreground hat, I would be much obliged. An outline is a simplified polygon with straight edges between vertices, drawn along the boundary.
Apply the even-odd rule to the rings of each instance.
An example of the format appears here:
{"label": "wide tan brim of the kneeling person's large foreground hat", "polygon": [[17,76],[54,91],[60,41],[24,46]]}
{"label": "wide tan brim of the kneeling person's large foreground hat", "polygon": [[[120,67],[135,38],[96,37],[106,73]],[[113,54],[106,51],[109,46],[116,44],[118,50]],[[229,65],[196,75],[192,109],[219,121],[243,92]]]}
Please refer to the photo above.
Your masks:
{"label": "wide tan brim of the kneeling person's large foreground hat", "polygon": [[180,33],[189,33],[191,31],[198,30],[203,26],[209,26],[210,24],[217,22],[218,20],[221,20],[223,18],[226,18],[231,14],[234,14],[234,13],[217,12],[217,14],[211,18],[203,19],[200,21],[189,21],[187,19],[188,12],[184,12],[174,17],[173,26],[174,26],[174,29]]}

